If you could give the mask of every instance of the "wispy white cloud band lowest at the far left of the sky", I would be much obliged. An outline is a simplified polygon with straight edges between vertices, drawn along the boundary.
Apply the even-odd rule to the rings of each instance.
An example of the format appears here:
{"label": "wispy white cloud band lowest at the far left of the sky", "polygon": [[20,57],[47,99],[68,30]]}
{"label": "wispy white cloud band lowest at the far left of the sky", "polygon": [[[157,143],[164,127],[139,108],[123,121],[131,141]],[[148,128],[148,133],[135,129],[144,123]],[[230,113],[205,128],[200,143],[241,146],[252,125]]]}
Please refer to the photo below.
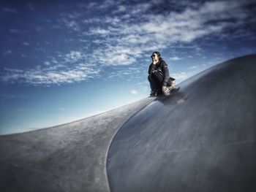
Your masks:
{"label": "wispy white cloud band lowest at the far left of the sky", "polygon": [[101,69],[95,64],[84,63],[85,55],[80,51],[71,51],[61,55],[58,61],[50,58],[42,66],[37,65],[34,69],[10,69],[4,68],[1,72],[2,82],[26,82],[31,85],[60,85],[99,77]]}

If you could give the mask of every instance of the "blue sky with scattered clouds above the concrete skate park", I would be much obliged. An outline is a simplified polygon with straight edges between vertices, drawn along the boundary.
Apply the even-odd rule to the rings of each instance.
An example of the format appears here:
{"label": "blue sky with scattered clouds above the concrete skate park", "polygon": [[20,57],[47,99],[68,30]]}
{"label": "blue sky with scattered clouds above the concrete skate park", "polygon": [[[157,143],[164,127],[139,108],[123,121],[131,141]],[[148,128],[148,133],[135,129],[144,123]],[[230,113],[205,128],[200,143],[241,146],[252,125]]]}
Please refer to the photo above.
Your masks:
{"label": "blue sky with scattered clouds above the concrete skate park", "polygon": [[256,53],[256,1],[1,1],[0,134],[146,98],[151,54],[181,82]]}

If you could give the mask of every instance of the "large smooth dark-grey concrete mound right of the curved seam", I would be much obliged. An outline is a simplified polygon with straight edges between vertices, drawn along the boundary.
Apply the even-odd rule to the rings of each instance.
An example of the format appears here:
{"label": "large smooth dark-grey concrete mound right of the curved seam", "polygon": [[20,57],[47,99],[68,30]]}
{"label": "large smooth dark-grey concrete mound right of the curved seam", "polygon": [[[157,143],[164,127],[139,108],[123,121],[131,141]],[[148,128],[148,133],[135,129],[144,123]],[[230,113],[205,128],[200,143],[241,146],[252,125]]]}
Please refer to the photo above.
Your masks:
{"label": "large smooth dark-grey concrete mound right of the curved seam", "polygon": [[256,55],[189,78],[127,120],[110,145],[111,191],[256,191]]}

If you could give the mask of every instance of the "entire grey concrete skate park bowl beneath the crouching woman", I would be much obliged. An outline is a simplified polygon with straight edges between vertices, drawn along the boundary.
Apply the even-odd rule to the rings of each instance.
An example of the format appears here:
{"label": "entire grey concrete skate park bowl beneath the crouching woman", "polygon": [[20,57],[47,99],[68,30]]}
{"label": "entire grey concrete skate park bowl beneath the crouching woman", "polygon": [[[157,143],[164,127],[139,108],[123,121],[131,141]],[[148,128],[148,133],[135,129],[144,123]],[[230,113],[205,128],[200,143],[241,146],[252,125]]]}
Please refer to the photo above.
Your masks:
{"label": "entire grey concrete skate park bowl beneath the crouching woman", "polygon": [[256,191],[256,55],[61,126],[0,136],[0,191]]}

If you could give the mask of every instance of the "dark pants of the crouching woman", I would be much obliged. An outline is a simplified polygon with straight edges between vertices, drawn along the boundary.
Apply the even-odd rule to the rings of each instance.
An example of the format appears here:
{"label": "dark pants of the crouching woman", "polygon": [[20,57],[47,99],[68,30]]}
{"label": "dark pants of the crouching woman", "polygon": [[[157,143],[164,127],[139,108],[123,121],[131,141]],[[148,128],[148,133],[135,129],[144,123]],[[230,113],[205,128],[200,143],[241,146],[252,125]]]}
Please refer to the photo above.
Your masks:
{"label": "dark pants of the crouching woman", "polygon": [[[150,83],[151,91],[162,91],[162,81],[164,80],[164,76],[160,72],[154,72],[148,75],[148,81]],[[172,81],[175,79],[170,77],[167,86],[170,86]]]}

